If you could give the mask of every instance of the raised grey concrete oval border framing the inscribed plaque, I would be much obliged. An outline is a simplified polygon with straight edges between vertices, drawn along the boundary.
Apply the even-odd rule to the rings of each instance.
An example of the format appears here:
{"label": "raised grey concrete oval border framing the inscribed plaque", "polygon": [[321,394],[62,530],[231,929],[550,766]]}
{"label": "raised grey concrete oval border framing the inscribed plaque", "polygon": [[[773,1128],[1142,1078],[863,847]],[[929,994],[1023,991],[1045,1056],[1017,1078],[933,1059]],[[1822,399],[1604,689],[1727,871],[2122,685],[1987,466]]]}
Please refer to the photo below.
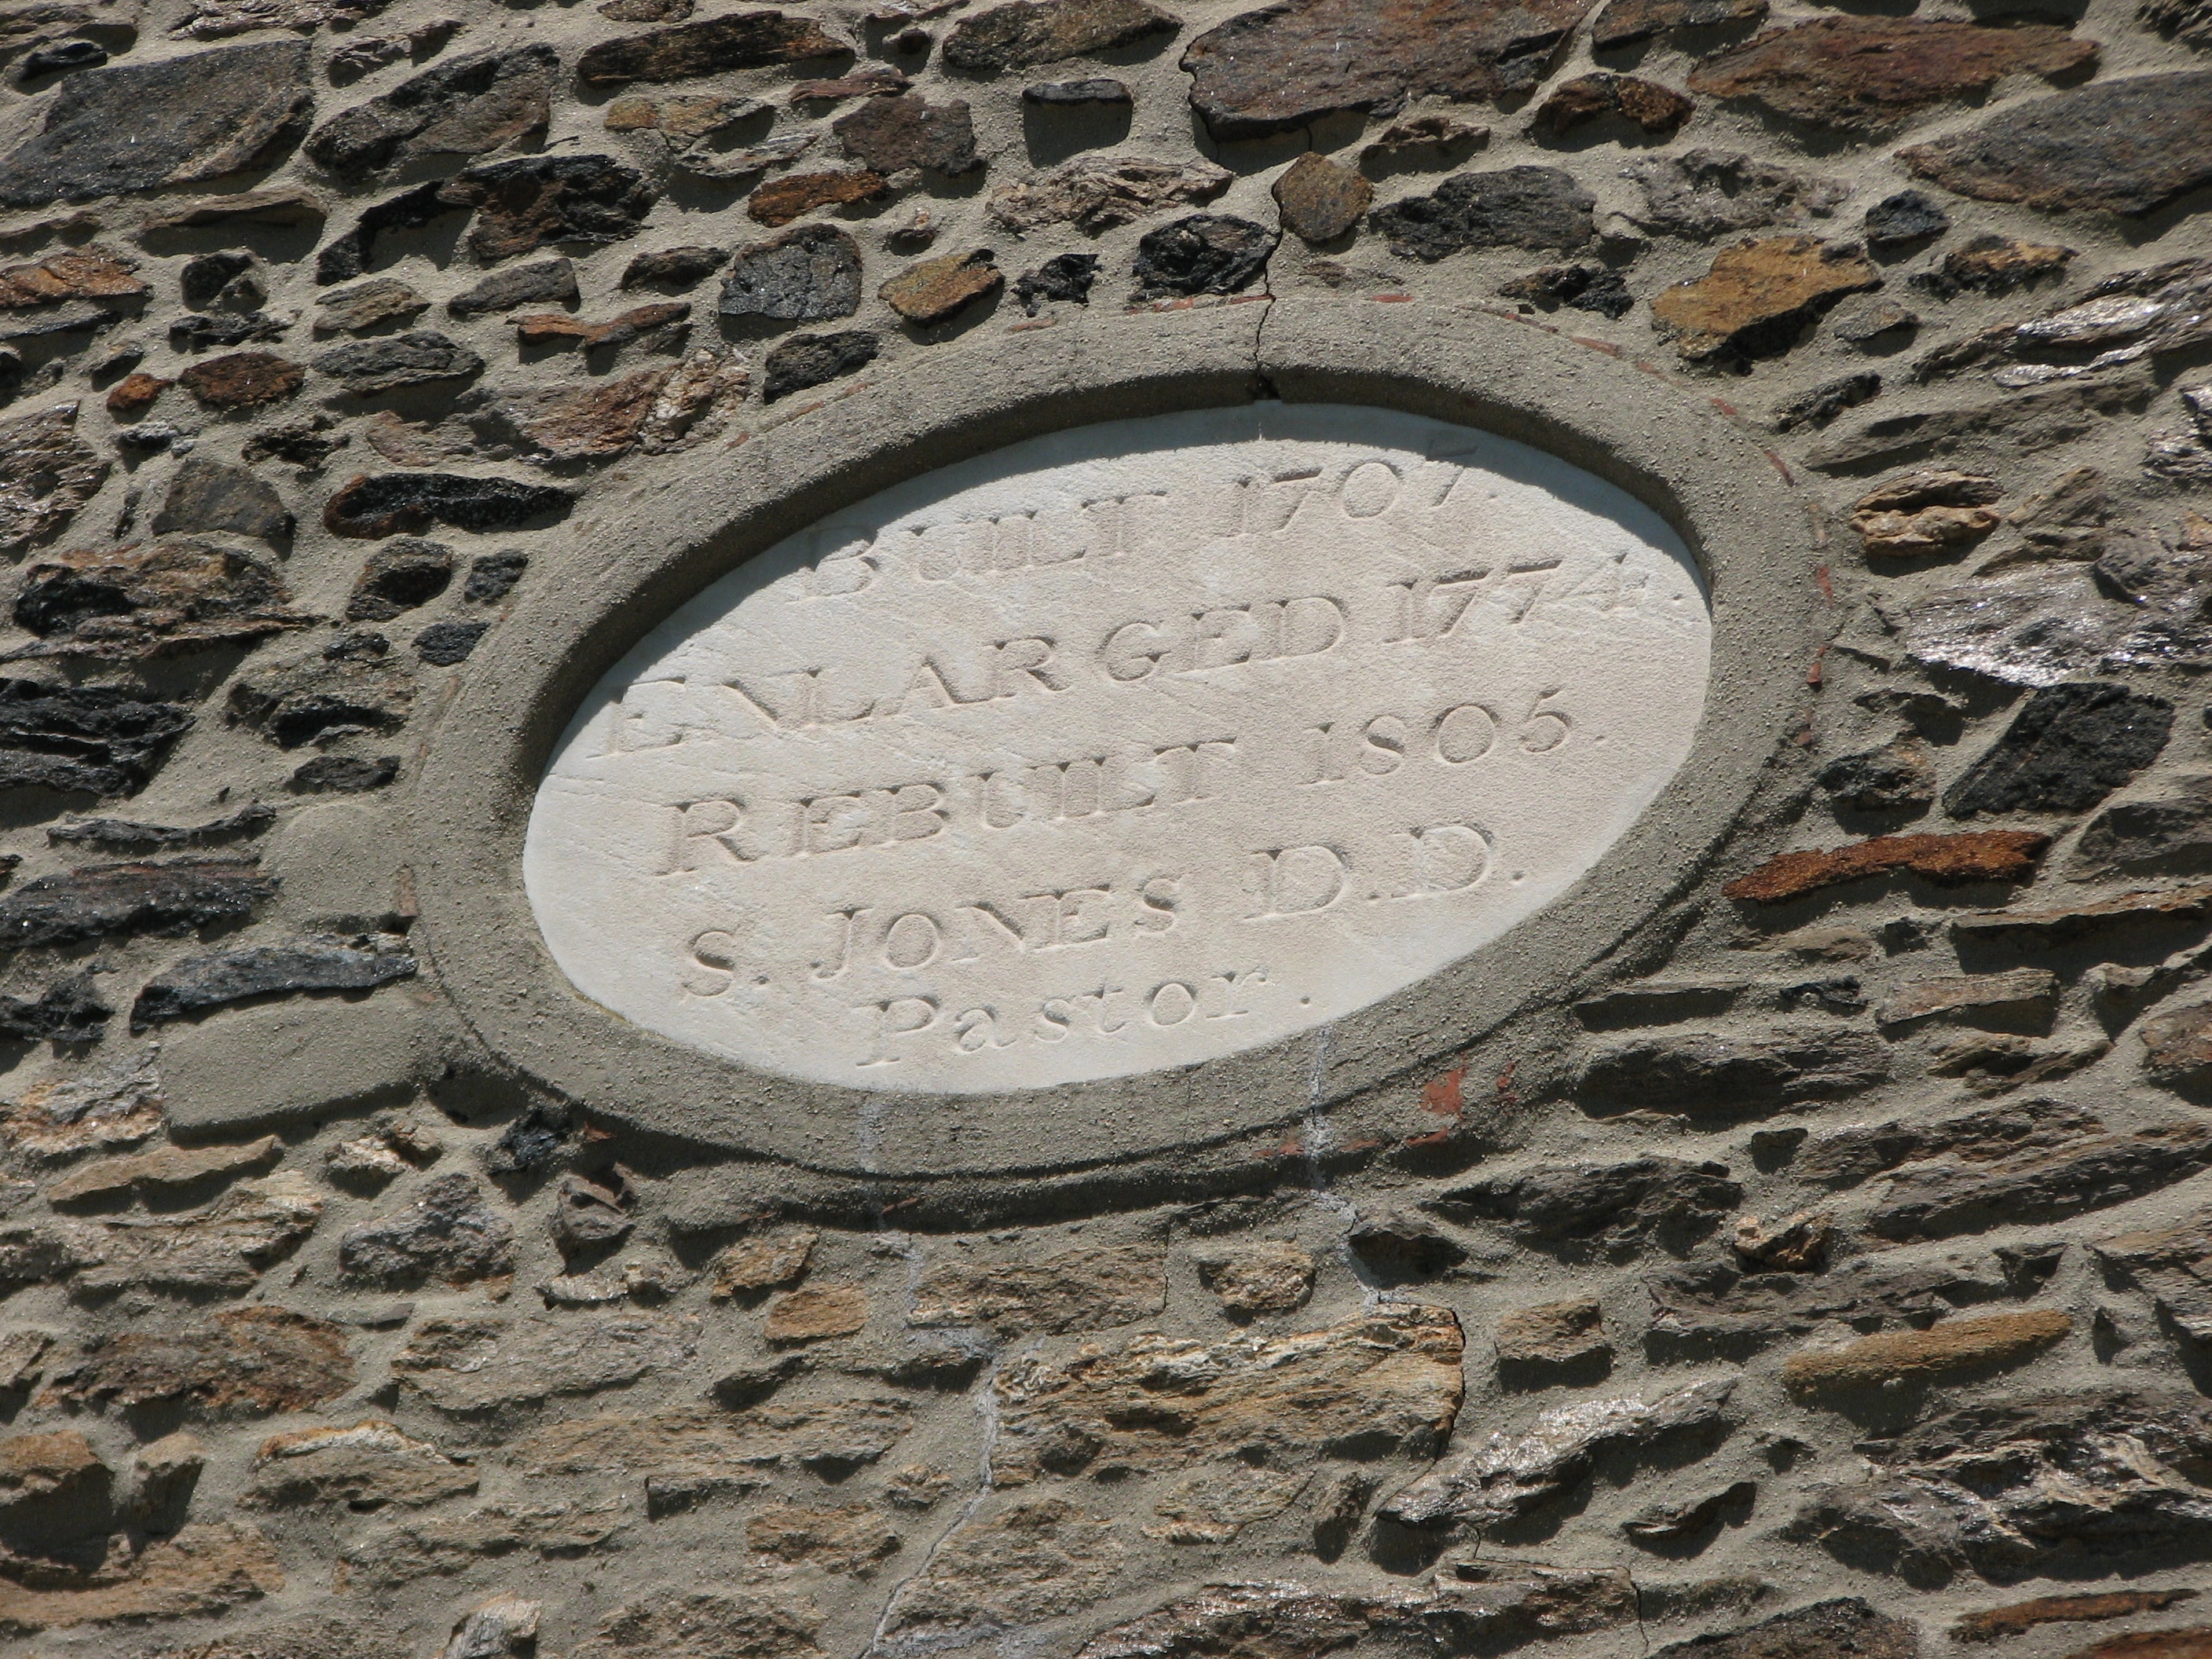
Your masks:
{"label": "raised grey concrete oval border framing the inscribed plaque", "polygon": [[[1371,403],[1548,449],[1659,511],[1714,602],[1705,719],[1644,818],[1562,900],[1318,1033],[1199,1066],[1018,1095],[801,1084],[599,1009],[522,891],[538,776],[573,708],[655,622],[827,511],[1015,438],[1281,396]],[[487,637],[411,794],[418,938],[473,1035],[535,1086],[639,1130],[825,1175],[1051,1175],[1287,1124],[1495,1031],[1650,918],[1725,836],[1814,648],[1814,513],[1712,400],[1511,316],[1254,301],[975,330],[902,369],[792,398],[560,531],[571,551]],[[619,487],[619,473],[611,480]]]}

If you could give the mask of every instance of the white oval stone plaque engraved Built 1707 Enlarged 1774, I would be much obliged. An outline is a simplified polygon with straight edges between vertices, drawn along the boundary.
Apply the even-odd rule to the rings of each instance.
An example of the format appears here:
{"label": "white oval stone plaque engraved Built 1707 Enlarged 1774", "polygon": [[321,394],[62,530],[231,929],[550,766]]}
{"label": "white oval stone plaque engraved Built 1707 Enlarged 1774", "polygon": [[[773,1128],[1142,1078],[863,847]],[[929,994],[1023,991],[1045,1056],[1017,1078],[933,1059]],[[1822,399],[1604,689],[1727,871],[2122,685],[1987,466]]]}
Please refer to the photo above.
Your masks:
{"label": "white oval stone plaque engraved Built 1707 Enlarged 1774", "polygon": [[1062,431],[668,617],[538,790],[588,998],[770,1073],[1000,1093],[1325,1024],[1582,876],[1690,752],[1712,617],[1604,480],[1420,416]]}

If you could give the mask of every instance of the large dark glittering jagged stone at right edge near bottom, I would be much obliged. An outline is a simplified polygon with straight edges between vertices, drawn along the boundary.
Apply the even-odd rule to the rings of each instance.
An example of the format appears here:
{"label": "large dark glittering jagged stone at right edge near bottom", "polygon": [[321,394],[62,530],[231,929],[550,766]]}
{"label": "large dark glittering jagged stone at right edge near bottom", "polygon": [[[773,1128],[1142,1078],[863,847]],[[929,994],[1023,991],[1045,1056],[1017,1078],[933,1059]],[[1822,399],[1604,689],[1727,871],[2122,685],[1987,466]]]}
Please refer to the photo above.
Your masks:
{"label": "large dark glittering jagged stone at right edge near bottom", "polygon": [[[1973,1400],[1854,1451],[1874,1473],[1818,1489],[1785,1537],[1936,1588],[2212,1559],[2212,1400],[2079,1389]],[[1666,1652],[1666,1650],[1663,1650]]]}

